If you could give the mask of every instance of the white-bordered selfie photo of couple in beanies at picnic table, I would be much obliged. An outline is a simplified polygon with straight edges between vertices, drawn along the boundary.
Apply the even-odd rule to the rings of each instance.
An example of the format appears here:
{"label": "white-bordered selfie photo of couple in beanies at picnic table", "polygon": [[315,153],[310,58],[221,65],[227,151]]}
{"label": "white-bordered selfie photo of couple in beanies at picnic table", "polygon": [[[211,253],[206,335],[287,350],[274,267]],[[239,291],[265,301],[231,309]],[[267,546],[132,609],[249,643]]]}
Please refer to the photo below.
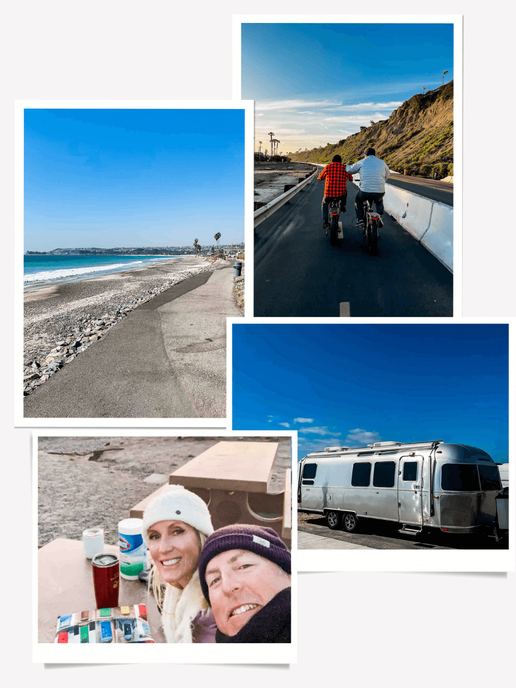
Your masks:
{"label": "white-bordered selfie photo of couple in beanies at picnic table", "polygon": [[295,433],[195,432],[34,437],[40,660],[293,660]]}

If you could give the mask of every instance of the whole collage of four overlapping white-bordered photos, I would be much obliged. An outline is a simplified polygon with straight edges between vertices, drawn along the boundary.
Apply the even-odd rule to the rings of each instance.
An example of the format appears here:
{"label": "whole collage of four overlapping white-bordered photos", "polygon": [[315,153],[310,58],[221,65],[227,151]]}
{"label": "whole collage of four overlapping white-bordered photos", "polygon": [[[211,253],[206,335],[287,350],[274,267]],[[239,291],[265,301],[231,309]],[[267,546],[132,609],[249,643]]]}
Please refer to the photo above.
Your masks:
{"label": "whole collage of four overlapping white-bordered photos", "polygon": [[328,615],[372,631],[372,576],[405,625],[429,575],[515,572],[516,317],[462,305],[462,20],[233,14],[232,98],[16,100],[34,663],[303,672],[346,649]]}

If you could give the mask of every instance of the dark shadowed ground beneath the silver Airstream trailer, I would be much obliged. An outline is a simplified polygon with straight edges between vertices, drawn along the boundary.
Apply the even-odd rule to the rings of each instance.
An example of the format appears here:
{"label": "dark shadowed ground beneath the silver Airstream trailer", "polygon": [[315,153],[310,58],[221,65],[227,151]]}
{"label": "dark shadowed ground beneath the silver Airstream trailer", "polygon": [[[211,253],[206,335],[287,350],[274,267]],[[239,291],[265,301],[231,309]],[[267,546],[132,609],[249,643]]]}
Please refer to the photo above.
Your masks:
{"label": "dark shadowed ground beneath the silver Airstream trailer", "polygon": [[[356,533],[346,533],[345,530],[330,530],[326,520],[319,514],[298,513],[297,530],[301,533],[312,533],[325,538],[336,540],[337,547],[340,543],[349,543],[354,546],[369,547],[376,550],[497,550],[507,549],[508,544],[503,544],[493,537],[481,535],[452,535],[442,533],[436,528],[425,528],[417,537],[398,533],[400,525],[376,519],[361,519],[358,522]],[[329,545],[326,544],[325,549]]]}

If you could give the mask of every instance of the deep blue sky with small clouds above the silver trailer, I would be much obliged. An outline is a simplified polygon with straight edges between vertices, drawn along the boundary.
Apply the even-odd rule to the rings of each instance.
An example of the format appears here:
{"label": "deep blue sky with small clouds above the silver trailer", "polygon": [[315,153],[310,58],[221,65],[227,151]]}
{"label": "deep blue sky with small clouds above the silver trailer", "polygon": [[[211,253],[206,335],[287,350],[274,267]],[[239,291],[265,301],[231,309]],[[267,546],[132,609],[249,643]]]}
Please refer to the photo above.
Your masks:
{"label": "deep blue sky with small clouds above the silver trailer", "polygon": [[233,430],[444,440],[508,460],[508,325],[233,325]]}

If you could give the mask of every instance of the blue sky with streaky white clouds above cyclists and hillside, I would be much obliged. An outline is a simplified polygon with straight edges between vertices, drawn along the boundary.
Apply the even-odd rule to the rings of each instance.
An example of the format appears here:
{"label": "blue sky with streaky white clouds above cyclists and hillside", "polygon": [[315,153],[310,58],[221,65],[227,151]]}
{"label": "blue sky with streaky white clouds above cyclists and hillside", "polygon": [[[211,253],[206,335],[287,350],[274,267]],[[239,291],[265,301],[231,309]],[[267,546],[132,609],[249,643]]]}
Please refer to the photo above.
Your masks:
{"label": "blue sky with streaky white clouds above cyclists and hillside", "polygon": [[453,78],[453,24],[242,24],[241,94],[255,149],[288,153],[387,119],[422,87]]}

